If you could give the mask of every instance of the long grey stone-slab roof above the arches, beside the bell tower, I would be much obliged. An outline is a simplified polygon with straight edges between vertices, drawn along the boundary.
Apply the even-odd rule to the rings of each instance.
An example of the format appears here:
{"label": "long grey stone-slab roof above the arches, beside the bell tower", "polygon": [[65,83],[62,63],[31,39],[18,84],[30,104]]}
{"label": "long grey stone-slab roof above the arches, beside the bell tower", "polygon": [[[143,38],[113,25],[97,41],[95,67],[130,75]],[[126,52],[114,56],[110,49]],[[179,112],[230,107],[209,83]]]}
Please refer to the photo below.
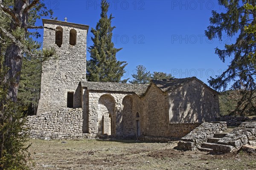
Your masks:
{"label": "long grey stone-slab roof above the arches, beside the bell tower", "polygon": [[81,86],[93,91],[134,92],[138,96],[142,96],[149,85],[126,84],[118,82],[81,82]]}

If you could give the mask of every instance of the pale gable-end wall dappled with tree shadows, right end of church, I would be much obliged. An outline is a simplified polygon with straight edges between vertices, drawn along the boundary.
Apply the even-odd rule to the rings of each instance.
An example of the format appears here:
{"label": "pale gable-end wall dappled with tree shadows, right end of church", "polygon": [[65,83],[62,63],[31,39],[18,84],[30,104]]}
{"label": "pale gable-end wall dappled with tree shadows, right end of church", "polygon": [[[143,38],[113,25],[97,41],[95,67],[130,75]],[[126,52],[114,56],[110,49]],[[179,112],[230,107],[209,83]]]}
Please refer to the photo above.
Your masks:
{"label": "pale gable-end wall dappled with tree shadows, right end of church", "polygon": [[169,92],[170,123],[211,122],[219,116],[218,94],[193,80]]}

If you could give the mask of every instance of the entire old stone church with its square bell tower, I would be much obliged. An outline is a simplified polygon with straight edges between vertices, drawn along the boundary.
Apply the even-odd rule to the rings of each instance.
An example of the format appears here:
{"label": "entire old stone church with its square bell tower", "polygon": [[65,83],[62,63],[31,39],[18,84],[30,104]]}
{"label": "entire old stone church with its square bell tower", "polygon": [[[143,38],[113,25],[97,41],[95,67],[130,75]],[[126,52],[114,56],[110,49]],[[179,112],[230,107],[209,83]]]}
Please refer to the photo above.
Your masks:
{"label": "entire old stone church with its square bell tower", "polygon": [[[37,139],[183,137],[219,116],[218,92],[196,77],[151,80],[149,85],[87,82],[89,26],[43,19],[44,48],[58,59],[42,65]],[[56,29],[56,31],[54,31]]]}

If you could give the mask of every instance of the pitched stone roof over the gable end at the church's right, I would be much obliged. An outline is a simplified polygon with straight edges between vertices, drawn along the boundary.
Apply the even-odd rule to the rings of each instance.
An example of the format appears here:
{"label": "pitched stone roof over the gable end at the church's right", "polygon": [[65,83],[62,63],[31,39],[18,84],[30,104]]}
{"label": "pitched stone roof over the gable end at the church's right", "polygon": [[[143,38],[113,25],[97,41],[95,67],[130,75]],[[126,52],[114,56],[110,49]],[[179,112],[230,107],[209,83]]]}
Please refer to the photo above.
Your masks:
{"label": "pitched stone roof over the gable end at the church's right", "polygon": [[166,92],[166,91],[173,91],[176,88],[179,88],[193,80],[200,82],[206,88],[210,89],[211,91],[214,91],[215,93],[218,93],[217,91],[213,90],[212,88],[210,88],[208,85],[206,85],[204,82],[202,82],[200,79],[197,79],[196,77],[188,77],[183,79],[176,79],[176,78],[157,79],[157,80],[151,80],[151,83],[154,83],[158,88],[160,88],[161,91]]}

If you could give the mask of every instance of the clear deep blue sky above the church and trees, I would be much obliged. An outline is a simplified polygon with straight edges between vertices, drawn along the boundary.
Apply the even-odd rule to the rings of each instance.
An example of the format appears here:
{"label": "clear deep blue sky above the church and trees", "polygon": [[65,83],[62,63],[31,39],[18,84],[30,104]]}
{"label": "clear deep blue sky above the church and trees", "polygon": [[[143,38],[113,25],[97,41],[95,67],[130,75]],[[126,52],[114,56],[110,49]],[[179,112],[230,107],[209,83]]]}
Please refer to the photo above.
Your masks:
{"label": "clear deep blue sky above the church and trees", "polygon": [[[100,18],[99,0],[46,0],[58,20],[95,28]],[[176,78],[196,76],[208,84],[210,76],[220,75],[230,62],[221,62],[214,48],[230,44],[208,40],[204,31],[209,26],[211,11],[224,11],[217,0],[109,0],[113,17],[113,42],[117,59],[127,61],[124,78],[132,78],[137,65],[151,73],[171,73]],[[38,25],[42,22],[38,21]],[[88,32],[87,46],[92,45]],[[87,60],[90,59],[87,52]]]}

